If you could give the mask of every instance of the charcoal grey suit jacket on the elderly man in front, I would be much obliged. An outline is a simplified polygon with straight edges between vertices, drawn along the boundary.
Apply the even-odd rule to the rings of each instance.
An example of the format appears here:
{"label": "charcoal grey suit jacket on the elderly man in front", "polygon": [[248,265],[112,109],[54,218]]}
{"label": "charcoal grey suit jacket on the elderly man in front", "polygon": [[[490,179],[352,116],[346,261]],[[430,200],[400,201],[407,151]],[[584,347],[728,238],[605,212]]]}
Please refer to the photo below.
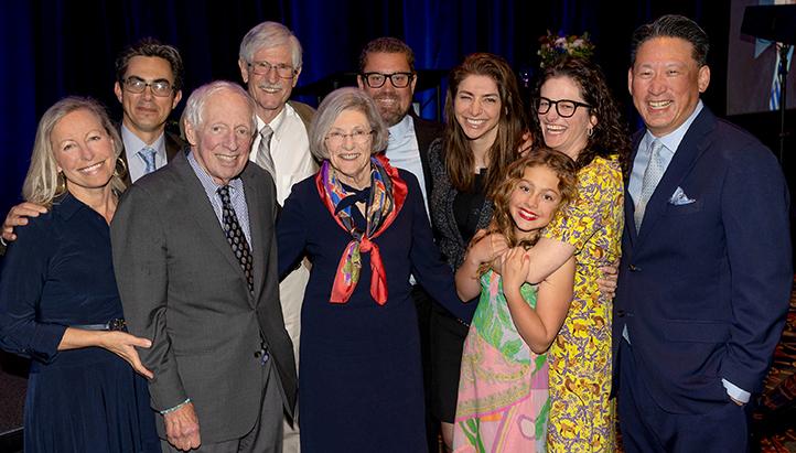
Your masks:
{"label": "charcoal grey suit jacket on the elderly man in front", "polygon": [[184,153],[130,186],[111,224],[130,333],[152,339],[151,348],[139,350],[154,373],[152,407],[163,410],[191,398],[202,440],[211,443],[241,438],[260,413],[267,384],[255,357],[260,337],[279,373],[288,413],[295,403],[295,362],[279,304],[273,181],[257,165],[246,165],[240,177],[254,295]]}

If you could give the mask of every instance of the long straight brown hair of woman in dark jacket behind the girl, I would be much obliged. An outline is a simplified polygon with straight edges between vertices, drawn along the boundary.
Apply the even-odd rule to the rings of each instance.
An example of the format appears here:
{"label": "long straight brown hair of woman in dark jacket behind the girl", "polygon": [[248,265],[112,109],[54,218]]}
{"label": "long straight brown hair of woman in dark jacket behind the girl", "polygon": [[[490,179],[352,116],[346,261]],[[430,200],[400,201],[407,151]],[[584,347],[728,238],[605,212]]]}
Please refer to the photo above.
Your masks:
{"label": "long straight brown hair of woman in dark jacket behind the girl", "polygon": [[497,121],[497,137],[487,153],[490,168],[486,171],[487,191],[496,186],[508,165],[517,159],[523,132],[526,129],[525,109],[519,95],[517,77],[502,56],[475,53],[453,68],[448,77],[445,96],[445,136],[442,143],[445,153],[445,169],[451,184],[460,192],[471,192],[475,182],[475,158],[470,150],[470,140],[456,121],[453,100],[459,85],[467,76],[483,75],[495,80],[501,97],[501,118]]}

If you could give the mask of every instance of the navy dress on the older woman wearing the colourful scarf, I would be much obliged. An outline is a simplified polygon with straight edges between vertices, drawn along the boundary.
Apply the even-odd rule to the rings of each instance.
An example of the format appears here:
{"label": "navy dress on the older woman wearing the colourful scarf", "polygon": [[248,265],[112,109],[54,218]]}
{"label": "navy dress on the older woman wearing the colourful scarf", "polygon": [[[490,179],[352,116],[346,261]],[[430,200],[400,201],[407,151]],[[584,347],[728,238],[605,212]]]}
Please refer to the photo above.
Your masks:
{"label": "navy dress on the older woman wearing the colourful scarf", "polygon": [[345,304],[330,303],[340,258],[351,235],[323,205],[311,176],[292,188],[277,226],[279,272],[304,256],[312,262],[301,311],[299,421],[301,450],[313,452],[426,452],[420,339],[410,296],[412,273],[431,295],[466,315],[450,267],[431,236],[422,195],[399,171],[409,193],[379,246],[388,298],[370,296],[370,254]]}

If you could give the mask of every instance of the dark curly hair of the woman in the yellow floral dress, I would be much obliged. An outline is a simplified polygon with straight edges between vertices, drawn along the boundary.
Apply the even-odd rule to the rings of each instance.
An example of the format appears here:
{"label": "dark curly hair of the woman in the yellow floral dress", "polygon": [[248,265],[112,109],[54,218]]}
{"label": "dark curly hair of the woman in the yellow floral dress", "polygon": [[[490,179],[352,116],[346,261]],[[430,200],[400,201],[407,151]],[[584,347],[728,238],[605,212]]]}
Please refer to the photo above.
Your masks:
{"label": "dark curly hair of the woman in the yellow floral dress", "polygon": [[585,58],[563,57],[550,67],[546,67],[539,77],[534,91],[531,104],[531,133],[534,143],[544,143],[545,138],[539,125],[539,109],[537,100],[545,82],[555,77],[569,77],[580,88],[585,104],[589,104],[589,114],[598,118],[598,125],[587,141],[585,149],[580,152],[576,162],[578,169],[591,163],[595,157],[609,158],[617,154],[622,172],[627,173],[630,168],[631,143],[627,138],[627,125],[622,119],[614,97],[605,83],[605,76],[600,67]]}

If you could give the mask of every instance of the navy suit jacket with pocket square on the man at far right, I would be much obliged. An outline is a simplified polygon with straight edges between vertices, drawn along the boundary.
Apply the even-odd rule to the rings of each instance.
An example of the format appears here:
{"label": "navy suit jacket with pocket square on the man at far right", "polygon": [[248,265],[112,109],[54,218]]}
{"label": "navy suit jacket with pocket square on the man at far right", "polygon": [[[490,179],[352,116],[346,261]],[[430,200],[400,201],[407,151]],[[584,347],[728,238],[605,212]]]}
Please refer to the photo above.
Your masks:
{"label": "navy suit jacket with pocket square on the man at far right", "polygon": [[[670,203],[677,187],[693,202]],[[638,373],[673,413],[727,403],[722,378],[760,391],[793,281],[788,191],[774,155],[706,107],[652,195],[638,234],[633,205],[626,192],[614,357],[626,324]]]}

